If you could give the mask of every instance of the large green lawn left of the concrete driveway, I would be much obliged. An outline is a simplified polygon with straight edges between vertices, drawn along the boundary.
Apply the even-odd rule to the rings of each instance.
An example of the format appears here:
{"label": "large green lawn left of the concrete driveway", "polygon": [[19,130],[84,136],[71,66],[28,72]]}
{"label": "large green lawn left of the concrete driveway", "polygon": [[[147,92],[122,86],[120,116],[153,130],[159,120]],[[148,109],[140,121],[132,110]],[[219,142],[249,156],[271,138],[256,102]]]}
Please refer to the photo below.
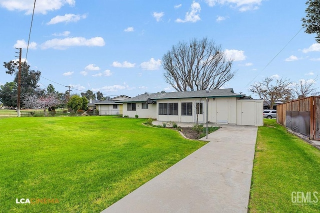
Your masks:
{"label": "large green lawn left of the concrete driveway", "polygon": [[205,144],[144,121],[0,119],[0,212],[100,212]]}

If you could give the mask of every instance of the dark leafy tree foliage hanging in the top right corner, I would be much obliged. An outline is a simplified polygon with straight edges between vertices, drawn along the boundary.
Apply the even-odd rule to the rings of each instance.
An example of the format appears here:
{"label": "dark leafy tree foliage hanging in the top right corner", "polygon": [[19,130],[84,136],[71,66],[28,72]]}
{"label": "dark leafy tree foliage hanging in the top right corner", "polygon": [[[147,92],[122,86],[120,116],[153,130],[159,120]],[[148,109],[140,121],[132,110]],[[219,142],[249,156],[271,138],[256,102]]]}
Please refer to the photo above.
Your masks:
{"label": "dark leafy tree foliage hanging in the top right corner", "polygon": [[306,33],[316,33],[315,40],[320,43],[320,1],[307,0],[305,9],[305,17],[302,18],[302,26],[305,28]]}

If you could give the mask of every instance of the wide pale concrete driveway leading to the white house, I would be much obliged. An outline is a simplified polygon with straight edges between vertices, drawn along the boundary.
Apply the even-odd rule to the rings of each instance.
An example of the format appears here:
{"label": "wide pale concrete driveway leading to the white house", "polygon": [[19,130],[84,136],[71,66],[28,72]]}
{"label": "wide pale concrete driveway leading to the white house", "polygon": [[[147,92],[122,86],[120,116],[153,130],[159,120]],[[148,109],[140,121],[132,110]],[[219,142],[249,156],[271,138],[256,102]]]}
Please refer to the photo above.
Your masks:
{"label": "wide pale concrete driveway leading to the white house", "polygon": [[219,125],[210,141],[102,213],[246,213],[257,127]]}

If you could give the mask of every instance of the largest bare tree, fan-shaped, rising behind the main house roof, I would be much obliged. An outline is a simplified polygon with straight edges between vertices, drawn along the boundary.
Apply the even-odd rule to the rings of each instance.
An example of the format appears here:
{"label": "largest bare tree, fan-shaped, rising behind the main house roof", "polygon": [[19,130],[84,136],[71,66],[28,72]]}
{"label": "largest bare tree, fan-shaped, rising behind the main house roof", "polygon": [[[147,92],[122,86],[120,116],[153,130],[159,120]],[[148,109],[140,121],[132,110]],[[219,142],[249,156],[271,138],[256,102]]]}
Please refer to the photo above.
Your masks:
{"label": "largest bare tree, fan-shaped, rising behind the main house roof", "polygon": [[220,88],[235,74],[232,62],[207,38],[179,42],[162,57],[164,79],[176,91]]}

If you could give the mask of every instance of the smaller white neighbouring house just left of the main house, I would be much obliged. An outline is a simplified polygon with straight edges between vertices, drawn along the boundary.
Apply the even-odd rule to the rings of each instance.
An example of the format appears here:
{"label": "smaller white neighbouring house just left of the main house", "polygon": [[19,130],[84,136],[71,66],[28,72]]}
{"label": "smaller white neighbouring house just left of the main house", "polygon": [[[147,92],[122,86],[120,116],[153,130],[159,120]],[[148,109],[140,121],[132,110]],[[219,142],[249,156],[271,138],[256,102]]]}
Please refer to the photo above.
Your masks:
{"label": "smaller white neighbouring house just left of the main house", "polygon": [[128,98],[130,97],[119,95],[108,100],[97,101],[94,105],[99,110],[99,115],[120,115],[122,114],[122,103],[120,101]]}

